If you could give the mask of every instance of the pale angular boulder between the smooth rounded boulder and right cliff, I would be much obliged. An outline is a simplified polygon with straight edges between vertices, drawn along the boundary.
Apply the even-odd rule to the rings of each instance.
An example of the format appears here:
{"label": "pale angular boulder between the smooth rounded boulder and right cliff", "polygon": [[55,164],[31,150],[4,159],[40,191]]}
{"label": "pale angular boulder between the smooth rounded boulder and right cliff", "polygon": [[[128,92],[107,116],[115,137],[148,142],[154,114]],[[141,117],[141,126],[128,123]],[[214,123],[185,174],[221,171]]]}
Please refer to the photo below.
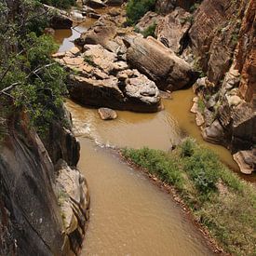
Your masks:
{"label": "pale angular boulder between the smooth rounded boulder and right cliff", "polygon": [[159,20],[155,29],[157,39],[171,48],[175,53],[181,53],[185,35],[191,27],[191,14],[178,7],[164,19]]}

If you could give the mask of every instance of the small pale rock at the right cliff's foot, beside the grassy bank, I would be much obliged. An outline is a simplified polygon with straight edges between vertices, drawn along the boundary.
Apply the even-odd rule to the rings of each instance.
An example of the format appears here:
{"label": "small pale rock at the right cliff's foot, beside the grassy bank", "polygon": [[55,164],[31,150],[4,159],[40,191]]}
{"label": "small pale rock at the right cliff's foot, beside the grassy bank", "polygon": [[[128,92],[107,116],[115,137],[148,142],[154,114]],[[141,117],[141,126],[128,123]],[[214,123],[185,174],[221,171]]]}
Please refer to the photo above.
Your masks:
{"label": "small pale rock at the right cliff's foot, beside the grassy bank", "polygon": [[233,155],[233,158],[239,166],[241,172],[251,174],[253,171],[256,171],[255,149],[250,151],[239,151]]}

